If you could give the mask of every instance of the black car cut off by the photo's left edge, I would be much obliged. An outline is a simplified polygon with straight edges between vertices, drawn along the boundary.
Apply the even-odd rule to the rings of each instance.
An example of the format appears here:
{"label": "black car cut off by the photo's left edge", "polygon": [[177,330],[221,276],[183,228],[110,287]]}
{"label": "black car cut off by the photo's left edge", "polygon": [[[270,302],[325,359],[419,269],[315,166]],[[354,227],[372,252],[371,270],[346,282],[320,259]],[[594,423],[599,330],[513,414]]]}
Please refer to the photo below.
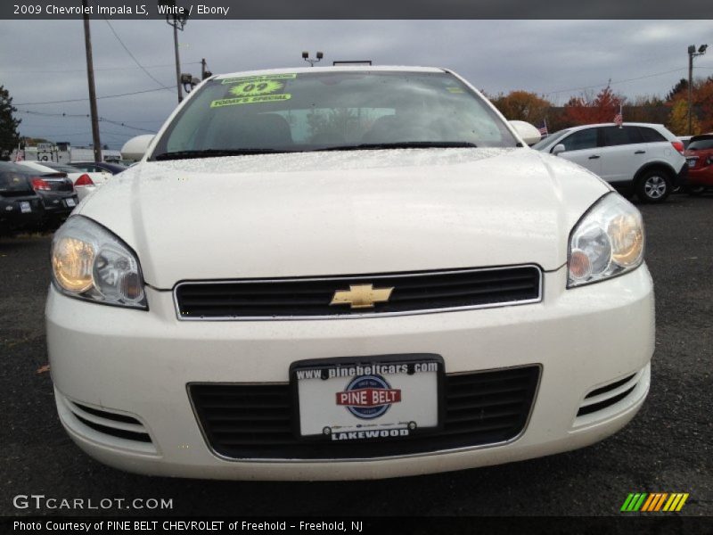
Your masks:
{"label": "black car cut off by the photo's left edge", "polygon": [[42,215],[42,202],[28,177],[0,161],[0,235],[35,230]]}

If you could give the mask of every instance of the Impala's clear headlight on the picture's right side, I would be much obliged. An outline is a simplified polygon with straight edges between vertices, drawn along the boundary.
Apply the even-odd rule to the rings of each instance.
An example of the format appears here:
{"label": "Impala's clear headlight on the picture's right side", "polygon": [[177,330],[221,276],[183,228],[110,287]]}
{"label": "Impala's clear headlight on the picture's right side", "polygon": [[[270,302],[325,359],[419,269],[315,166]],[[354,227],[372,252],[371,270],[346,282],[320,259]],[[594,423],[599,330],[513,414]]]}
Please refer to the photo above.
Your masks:
{"label": "Impala's clear headlight on the picture's right side", "polygon": [[643,241],[639,210],[617,193],[605,195],[572,230],[567,287],[638,268],[643,262]]}

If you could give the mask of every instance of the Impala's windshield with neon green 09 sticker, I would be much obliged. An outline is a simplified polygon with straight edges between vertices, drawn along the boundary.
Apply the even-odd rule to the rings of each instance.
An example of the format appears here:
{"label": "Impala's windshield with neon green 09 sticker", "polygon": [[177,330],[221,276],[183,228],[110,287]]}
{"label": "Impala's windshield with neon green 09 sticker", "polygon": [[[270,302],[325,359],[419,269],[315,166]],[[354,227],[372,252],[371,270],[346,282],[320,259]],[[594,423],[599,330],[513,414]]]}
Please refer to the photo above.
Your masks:
{"label": "Impala's windshield with neon green 09 sticker", "polygon": [[451,74],[315,70],[207,82],[152,159],[517,144],[495,111]]}

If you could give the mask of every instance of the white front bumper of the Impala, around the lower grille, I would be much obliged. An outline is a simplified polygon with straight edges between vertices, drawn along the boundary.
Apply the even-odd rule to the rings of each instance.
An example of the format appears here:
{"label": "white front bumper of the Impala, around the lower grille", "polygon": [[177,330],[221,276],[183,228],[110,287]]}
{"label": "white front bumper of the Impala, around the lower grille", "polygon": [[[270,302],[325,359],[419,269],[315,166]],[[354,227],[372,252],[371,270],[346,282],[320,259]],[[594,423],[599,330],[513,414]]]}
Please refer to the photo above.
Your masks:
{"label": "white front bumper of the Impala, around the lower grille", "polygon": [[[542,302],[495,309],[226,322],[180,321],[172,293],[151,288],[149,312],[86,303],[51,289],[47,343],[61,422],[82,449],[108,465],[198,478],[373,479],[580,448],[617,432],[646,397],[654,340],[652,281],[643,266],[599,284],[572,290],[565,284],[565,268],[546,273]],[[188,383],[286,383],[291,363],[307,358],[406,353],[442,356],[447,374],[541,366],[526,428],[506,443],[407,456],[226,459],[207,445],[186,390]],[[606,397],[586,399],[587,394],[631,375],[632,387],[623,398],[578,416],[581,407]],[[76,403],[123,416],[124,422],[111,425],[128,434],[120,438],[102,432],[101,425],[87,426],[77,417]],[[107,423],[81,414],[94,424]],[[149,439],[131,440],[131,433]]]}

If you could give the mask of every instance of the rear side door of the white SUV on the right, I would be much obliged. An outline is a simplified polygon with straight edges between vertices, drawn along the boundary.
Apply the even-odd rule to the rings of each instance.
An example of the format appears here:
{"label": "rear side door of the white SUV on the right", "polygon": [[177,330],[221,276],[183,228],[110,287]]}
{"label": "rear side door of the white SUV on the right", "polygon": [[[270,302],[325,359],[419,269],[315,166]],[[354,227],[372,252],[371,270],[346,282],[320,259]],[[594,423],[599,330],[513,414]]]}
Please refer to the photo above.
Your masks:
{"label": "rear side door of the white SUV on the right", "polygon": [[612,184],[630,182],[650,159],[638,127],[601,127],[602,175]]}

